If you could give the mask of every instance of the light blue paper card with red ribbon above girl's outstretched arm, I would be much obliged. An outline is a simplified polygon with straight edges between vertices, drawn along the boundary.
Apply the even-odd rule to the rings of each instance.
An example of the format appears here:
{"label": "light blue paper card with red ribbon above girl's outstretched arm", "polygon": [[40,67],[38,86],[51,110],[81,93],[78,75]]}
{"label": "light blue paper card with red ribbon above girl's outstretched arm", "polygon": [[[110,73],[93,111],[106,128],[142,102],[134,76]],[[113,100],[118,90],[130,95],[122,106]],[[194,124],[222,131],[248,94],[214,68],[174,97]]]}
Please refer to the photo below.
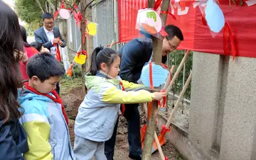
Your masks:
{"label": "light blue paper card with red ribbon above girl's outstretched arm", "polygon": [[142,74],[141,74],[142,83],[145,86],[152,85],[154,87],[158,87],[161,84],[164,84],[164,82],[166,81],[166,78],[168,77],[168,74],[169,74],[169,71],[161,67],[161,65],[151,63],[151,69],[150,69],[150,63],[146,63],[142,68]]}

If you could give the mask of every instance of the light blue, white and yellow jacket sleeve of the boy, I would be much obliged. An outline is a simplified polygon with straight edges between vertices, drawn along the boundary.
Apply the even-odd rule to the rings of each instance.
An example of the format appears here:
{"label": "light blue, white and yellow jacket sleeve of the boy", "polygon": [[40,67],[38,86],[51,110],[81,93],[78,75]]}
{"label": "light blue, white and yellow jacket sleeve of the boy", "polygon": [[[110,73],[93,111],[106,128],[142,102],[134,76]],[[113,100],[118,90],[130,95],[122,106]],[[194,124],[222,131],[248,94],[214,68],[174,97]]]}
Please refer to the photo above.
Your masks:
{"label": "light blue, white and yellow jacket sleeve of the boy", "polygon": [[47,115],[43,114],[41,106],[25,103],[21,105],[25,113],[20,118],[21,125],[28,135],[29,151],[25,159],[53,159],[49,143],[50,124]]}

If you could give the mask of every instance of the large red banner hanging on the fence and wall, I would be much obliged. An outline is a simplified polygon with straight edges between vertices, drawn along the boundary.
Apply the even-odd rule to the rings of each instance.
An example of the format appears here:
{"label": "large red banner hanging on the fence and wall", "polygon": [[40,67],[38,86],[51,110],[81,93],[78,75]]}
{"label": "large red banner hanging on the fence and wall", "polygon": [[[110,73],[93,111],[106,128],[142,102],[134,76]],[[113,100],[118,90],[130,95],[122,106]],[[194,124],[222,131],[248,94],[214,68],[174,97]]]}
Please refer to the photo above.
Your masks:
{"label": "large red banner hanging on the fence and wall", "polygon": [[[120,42],[128,42],[139,36],[139,30],[135,29],[137,11],[146,6],[147,0],[118,0]],[[235,41],[236,56],[256,57],[256,32],[254,29],[256,26],[256,4],[247,6],[244,3],[242,6],[239,4],[229,6],[228,1],[222,1],[219,6],[224,13],[225,22],[230,24]],[[193,4],[186,9],[188,9],[187,13],[185,11],[183,15],[178,15],[178,8],[174,8],[176,20],[169,15],[166,21],[166,25],[177,25],[183,32],[184,41],[181,42],[178,49],[224,55],[223,30],[213,38],[208,26],[203,25],[200,9],[193,8]],[[232,55],[229,41],[228,55]]]}

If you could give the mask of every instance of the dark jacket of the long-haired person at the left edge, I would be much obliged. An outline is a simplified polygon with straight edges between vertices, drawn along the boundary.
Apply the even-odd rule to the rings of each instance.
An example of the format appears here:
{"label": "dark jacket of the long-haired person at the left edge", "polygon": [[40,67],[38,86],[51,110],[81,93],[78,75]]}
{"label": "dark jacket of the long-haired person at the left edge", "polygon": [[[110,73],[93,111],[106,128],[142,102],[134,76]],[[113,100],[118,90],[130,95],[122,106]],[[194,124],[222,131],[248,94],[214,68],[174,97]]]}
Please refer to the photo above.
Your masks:
{"label": "dark jacket of the long-haired person at the left edge", "polygon": [[18,120],[0,121],[0,159],[23,160],[28,152],[27,135]]}

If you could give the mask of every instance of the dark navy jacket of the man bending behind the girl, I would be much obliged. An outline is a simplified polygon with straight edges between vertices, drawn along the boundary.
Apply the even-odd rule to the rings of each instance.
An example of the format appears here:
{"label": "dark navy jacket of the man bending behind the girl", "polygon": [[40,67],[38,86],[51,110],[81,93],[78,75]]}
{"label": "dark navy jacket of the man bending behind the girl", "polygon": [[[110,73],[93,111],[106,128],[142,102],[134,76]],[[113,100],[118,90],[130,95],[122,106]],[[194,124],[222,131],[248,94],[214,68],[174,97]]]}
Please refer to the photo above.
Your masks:
{"label": "dark navy jacket of the man bending behind the girl", "polygon": [[[142,73],[142,68],[149,62],[153,52],[152,40],[149,38],[136,38],[127,42],[119,50],[122,56],[119,76],[129,82],[137,83]],[[166,62],[167,57],[162,57],[162,62]]]}

